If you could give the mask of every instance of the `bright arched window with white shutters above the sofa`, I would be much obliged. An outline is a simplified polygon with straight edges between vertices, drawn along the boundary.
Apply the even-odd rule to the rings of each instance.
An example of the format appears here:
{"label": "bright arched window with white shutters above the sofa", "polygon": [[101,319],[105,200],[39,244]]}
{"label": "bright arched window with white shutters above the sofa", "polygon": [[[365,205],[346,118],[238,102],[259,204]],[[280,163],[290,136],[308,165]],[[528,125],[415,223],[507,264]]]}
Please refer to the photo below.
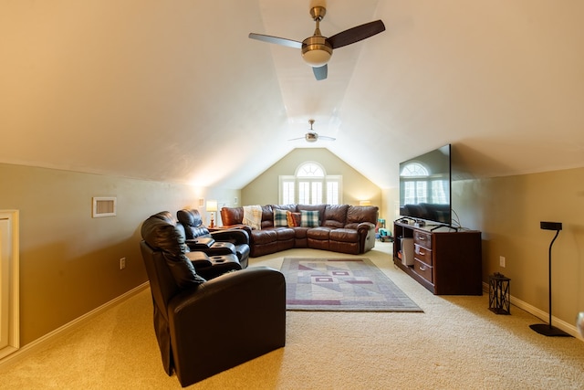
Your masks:
{"label": "bright arched window with white shutters above the sofa", "polygon": [[319,163],[302,163],[294,176],[279,177],[279,202],[281,205],[339,205],[341,179],[340,175],[327,175]]}

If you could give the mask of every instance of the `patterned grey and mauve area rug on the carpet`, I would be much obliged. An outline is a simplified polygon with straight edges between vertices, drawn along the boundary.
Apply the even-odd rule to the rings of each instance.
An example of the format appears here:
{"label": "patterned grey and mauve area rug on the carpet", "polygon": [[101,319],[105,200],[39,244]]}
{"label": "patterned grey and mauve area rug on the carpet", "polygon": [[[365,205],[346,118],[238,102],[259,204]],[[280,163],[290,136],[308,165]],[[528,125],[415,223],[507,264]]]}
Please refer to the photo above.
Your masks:
{"label": "patterned grey and mauve area rug on the carpet", "polygon": [[369,258],[284,258],[289,311],[422,311]]}

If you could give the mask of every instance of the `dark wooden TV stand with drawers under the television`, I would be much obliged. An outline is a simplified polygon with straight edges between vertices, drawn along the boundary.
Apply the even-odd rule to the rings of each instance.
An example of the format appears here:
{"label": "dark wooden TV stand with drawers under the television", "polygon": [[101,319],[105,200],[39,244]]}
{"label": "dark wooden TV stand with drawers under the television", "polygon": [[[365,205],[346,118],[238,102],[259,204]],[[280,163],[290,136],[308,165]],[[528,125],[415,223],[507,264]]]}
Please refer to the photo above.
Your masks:
{"label": "dark wooden TV stand with drawers under the television", "polygon": [[[393,263],[436,295],[483,295],[481,232],[393,224]],[[401,240],[412,238],[412,240]],[[401,245],[412,246],[405,265]]]}

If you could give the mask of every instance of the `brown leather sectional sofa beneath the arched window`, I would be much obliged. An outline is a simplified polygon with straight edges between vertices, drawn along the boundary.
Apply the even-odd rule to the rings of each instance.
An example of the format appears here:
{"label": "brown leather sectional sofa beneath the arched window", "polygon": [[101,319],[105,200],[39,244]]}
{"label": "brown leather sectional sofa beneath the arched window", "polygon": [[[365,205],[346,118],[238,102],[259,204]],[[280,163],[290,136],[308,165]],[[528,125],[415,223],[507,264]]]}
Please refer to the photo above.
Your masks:
{"label": "brown leather sectional sofa beneath the arched window", "polygon": [[[292,215],[318,212],[318,226],[275,226],[276,210]],[[243,228],[249,234],[250,256],[255,258],[291,248],[315,248],[359,255],[375,247],[377,206],[266,205],[262,206],[260,229],[243,224],[244,207],[223,207],[225,228]],[[277,218],[276,218],[277,219]]]}

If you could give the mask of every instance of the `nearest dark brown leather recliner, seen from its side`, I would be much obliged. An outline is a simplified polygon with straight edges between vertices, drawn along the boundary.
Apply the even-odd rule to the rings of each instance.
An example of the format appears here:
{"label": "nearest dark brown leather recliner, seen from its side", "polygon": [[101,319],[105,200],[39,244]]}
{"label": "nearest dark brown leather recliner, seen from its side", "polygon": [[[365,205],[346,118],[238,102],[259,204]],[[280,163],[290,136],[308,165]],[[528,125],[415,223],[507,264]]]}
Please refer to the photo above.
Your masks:
{"label": "nearest dark brown leather recliner, seen from its side", "polygon": [[282,273],[254,267],[201,278],[170,213],[149,217],[141,236],[162,364],[183,387],[284,346]]}

